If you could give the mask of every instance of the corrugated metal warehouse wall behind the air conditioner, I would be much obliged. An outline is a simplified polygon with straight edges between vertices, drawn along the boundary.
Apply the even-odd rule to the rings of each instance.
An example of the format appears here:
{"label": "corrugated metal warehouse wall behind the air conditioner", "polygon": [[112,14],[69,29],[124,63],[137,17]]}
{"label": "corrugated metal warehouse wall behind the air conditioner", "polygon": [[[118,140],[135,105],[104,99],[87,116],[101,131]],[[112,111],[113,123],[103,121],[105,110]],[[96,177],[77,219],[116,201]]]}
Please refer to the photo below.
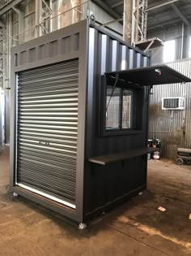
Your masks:
{"label": "corrugated metal warehouse wall behind the air conditioner", "polygon": [[[168,63],[169,67],[191,76],[191,59]],[[191,83],[155,85],[150,98],[149,137],[162,141],[162,156],[176,158],[176,148],[191,148]],[[185,111],[163,111],[163,97],[184,97]]]}

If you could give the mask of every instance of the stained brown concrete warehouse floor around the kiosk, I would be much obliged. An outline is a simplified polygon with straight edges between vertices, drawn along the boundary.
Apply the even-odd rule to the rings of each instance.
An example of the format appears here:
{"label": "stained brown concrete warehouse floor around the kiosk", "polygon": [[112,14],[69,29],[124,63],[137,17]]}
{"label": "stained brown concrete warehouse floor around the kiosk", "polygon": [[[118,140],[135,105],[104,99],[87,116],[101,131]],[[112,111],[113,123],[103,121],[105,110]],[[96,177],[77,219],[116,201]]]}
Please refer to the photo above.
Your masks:
{"label": "stained brown concrete warehouse floor around the kiosk", "polygon": [[[8,192],[0,157],[0,255],[191,255],[191,166],[149,161],[148,189],[83,231]],[[159,206],[167,210],[158,210]]]}

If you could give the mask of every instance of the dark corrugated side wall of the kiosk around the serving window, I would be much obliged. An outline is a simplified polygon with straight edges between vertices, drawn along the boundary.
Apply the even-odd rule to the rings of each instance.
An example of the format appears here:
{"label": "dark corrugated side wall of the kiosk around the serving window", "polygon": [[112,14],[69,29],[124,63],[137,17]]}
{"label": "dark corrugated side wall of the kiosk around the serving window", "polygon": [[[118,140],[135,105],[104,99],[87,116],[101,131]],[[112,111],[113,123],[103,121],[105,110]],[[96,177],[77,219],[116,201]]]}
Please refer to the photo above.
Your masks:
{"label": "dark corrugated side wall of the kiosk around the serving window", "polygon": [[88,163],[88,158],[146,146],[148,91],[142,90],[142,131],[134,135],[103,137],[99,134],[102,125],[100,113],[103,111],[100,88],[104,72],[148,65],[149,59],[145,54],[126,46],[122,41],[117,41],[99,29],[90,28],[84,170],[84,211],[87,219],[96,211],[103,211],[108,205],[120,201],[122,197],[128,197],[130,193],[146,188],[146,157],[131,158],[105,167]]}

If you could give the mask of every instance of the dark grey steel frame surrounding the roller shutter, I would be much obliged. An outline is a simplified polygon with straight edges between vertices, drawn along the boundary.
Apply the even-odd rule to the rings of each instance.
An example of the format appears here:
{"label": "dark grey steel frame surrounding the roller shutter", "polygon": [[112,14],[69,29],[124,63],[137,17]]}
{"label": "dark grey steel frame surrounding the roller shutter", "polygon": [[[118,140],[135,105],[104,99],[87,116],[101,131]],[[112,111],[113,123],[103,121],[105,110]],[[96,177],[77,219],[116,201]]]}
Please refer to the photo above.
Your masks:
{"label": "dark grey steel frame surrounding the roller shutter", "polygon": [[[87,34],[88,20],[61,28],[43,37],[28,41],[11,50],[11,175],[10,189],[33,202],[54,210],[78,223],[83,222],[83,172],[85,149],[85,124],[87,106]],[[42,50],[45,49],[45,50]],[[52,63],[61,63],[70,59],[79,59],[79,122],[77,147],[76,209],[71,209],[48,198],[41,197],[15,184],[16,169],[16,93],[18,72],[34,67],[45,67]]]}

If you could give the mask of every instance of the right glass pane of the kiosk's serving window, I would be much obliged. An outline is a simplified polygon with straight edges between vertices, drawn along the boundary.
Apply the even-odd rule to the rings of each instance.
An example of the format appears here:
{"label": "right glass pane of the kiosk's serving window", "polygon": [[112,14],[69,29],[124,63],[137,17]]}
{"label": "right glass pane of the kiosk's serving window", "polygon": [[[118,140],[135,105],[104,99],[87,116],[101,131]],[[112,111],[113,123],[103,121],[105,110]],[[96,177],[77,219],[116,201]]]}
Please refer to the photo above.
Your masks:
{"label": "right glass pane of the kiosk's serving window", "polygon": [[122,128],[132,128],[132,92],[123,91]]}

